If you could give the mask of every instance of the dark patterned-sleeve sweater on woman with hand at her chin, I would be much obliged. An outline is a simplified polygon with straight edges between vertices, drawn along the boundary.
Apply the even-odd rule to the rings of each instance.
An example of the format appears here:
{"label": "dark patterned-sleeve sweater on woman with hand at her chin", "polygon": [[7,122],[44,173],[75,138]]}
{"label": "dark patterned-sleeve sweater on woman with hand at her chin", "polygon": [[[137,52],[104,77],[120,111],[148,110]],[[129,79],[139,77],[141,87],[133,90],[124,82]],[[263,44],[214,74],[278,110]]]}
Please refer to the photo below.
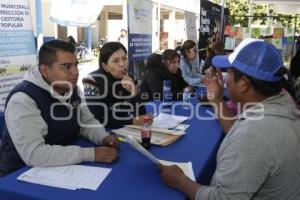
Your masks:
{"label": "dark patterned-sleeve sweater on woman with hand at her chin", "polygon": [[[146,113],[145,106],[139,105],[140,96],[127,98],[130,93],[119,84],[120,80],[115,79],[103,69],[90,73],[90,76],[94,80],[83,79],[85,99],[90,111],[105,128],[115,129],[132,124],[134,116]],[[126,112],[128,110],[132,112]]]}

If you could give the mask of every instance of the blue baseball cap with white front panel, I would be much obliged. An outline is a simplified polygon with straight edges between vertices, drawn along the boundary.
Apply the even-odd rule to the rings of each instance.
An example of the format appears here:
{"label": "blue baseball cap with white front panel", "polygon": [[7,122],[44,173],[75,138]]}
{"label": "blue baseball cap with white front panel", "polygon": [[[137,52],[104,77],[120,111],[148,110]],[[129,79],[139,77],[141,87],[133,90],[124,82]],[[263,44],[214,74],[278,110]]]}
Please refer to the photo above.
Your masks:
{"label": "blue baseball cap with white front panel", "polygon": [[261,39],[244,39],[229,56],[215,56],[212,64],[217,68],[234,67],[244,74],[267,82],[282,78],[276,74],[283,67],[280,52]]}

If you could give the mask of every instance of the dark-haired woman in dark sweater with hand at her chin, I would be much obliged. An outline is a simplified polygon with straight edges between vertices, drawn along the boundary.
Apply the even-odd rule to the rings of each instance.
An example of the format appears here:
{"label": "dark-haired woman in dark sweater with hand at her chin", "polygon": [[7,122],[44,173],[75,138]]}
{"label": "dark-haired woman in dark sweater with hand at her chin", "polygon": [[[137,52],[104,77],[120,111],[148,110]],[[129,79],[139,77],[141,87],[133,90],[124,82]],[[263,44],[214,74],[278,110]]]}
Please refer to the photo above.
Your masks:
{"label": "dark-haired woman in dark sweater with hand at her chin", "polygon": [[[128,75],[127,50],[120,42],[103,45],[99,69],[83,79],[84,94],[90,111],[106,128],[139,123],[145,114],[139,91]],[[136,117],[134,117],[134,116]]]}

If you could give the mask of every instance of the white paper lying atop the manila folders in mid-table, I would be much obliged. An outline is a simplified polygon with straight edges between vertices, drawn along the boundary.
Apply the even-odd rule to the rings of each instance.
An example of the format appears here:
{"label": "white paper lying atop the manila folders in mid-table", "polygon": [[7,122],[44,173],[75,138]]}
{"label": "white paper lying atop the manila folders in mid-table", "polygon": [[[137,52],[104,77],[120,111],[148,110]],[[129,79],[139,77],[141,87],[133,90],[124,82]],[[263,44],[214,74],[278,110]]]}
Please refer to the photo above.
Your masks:
{"label": "white paper lying atop the manila folders in mid-table", "polygon": [[152,127],[174,129],[176,126],[187,120],[188,117],[159,113],[153,119]]}

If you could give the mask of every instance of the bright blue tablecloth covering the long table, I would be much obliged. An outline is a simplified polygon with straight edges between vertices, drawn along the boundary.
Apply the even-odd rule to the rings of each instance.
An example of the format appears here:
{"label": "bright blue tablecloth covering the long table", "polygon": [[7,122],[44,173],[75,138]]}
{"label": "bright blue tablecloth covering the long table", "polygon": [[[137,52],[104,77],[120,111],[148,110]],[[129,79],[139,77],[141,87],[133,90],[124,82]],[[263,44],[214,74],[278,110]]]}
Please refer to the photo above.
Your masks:
{"label": "bright blue tablecloth covering the long table", "polygon": [[[196,107],[196,100],[193,101]],[[189,115],[192,112],[183,110],[181,106],[177,106],[174,110],[180,115]],[[216,152],[223,138],[218,121],[205,119],[209,116],[207,110],[211,111],[211,108],[198,106],[195,113],[199,116],[193,116],[186,122],[191,126],[186,135],[178,141],[166,147],[152,146],[150,150],[159,159],[178,162],[192,161],[195,176],[201,184],[208,184],[211,179],[215,169]],[[83,139],[78,143],[81,146],[90,145]],[[0,199],[185,199],[182,193],[165,186],[156,166],[126,143],[121,144],[119,160],[116,163],[85,164],[112,168],[111,173],[97,191],[83,189],[74,191],[18,181],[17,176],[29,169],[29,167],[24,167],[0,179]]]}

